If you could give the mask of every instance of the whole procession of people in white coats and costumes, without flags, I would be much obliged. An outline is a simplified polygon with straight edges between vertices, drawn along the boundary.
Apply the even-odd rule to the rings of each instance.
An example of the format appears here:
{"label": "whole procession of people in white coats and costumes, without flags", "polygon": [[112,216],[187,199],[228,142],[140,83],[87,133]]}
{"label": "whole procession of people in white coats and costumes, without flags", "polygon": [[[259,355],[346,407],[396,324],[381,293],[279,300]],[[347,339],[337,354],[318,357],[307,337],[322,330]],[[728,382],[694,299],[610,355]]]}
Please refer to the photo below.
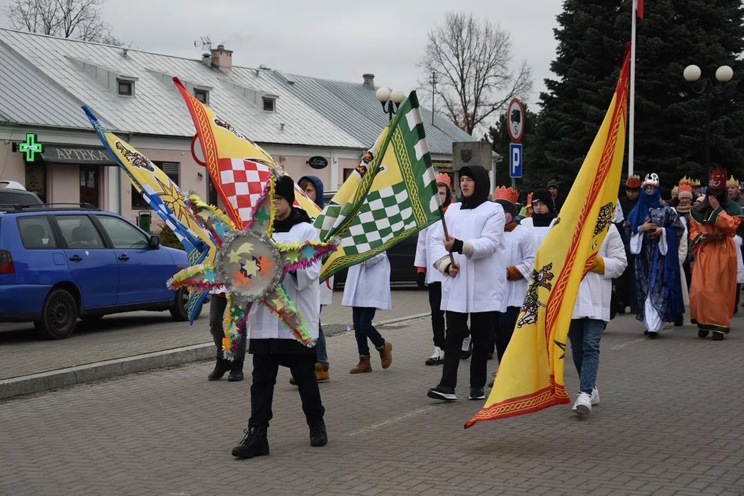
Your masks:
{"label": "whole procession of people in white coats and costumes, without flags", "polygon": [[[712,170],[705,189],[699,181],[682,178],[669,199],[661,198],[655,173],[643,181],[637,175],[627,178],[615,217],[581,282],[568,329],[580,379],[573,405],[578,415],[589,415],[600,401],[596,384],[600,340],[616,313],[630,307],[649,338],[657,338],[665,323],[682,326],[687,306],[700,338],[712,333],[713,340],[720,341],[729,332],[744,281],[740,237],[744,196],[738,181],[726,176],[725,170]],[[483,167],[461,168],[458,180],[460,198],[455,202],[449,175],[437,175],[443,222],[420,231],[415,255],[419,280],[428,287],[432,317],[434,350],[424,363],[443,366],[438,384],[427,395],[445,402],[458,399],[458,367],[468,358],[468,397],[486,397],[488,361],[495,355],[500,362],[504,356],[529,297],[527,283],[536,252],[564,202],[557,181],[527,195],[522,207],[518,192],[510,187],[497,187],[492,193]],[[306,176],[298,184],[323,206],[318,178]],[[275,192],[274,239],[317,239],[307,213],[292,206],[292,179],[280,178]],[[253,355],[251,417],[245,437],[233,449],[235,457],[269,454],[267,429],[280,365],[291,370],[290,382],[298,386],[310,444],[327,444],[318,382],[330,379],[320,316],[322,305],[330,304],[331,285],[318,283],[319,271],[316,263],[289,274],[283,282],[307,320],[315,347],[295,341],[276,315],[254,306],[248,339],[240,343],[234,361],[226,361],[221,350],[225,297],[214,292],[210,325],[217,361],[208,379],[229,372],[228,380],[242,380],[246,347]],[[359,352],[359,364],[350,373],[372,371],[369,342],[379,354],[380,366],[391,366],[392,344],[373,326],[376,310],[391,309],[389,280],[385,253],[354,265],[347,274],[341,304],[352,308]]]}

